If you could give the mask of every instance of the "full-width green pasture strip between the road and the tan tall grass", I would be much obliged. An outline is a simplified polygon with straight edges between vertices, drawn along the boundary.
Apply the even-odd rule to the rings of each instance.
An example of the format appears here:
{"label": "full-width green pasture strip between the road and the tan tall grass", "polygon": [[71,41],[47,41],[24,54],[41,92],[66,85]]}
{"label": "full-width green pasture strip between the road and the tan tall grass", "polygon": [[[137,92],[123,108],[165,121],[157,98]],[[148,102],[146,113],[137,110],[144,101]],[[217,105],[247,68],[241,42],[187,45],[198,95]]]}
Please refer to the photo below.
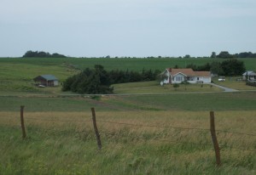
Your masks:
{"label": "full-width green pasture strip between the road and the tan tall grass", "polygon": [[0,97],[0,110],[87,111],[97,110],[255,110],[256,93],[171,93],[90,97]]}

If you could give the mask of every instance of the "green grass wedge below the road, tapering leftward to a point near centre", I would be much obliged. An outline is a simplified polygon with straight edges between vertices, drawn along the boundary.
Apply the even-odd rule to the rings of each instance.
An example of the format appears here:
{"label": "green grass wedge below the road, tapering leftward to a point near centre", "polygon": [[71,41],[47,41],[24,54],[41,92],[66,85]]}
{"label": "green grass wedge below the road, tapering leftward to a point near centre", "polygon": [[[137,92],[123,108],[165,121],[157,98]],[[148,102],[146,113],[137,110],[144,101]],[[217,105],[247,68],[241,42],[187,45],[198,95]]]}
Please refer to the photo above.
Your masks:
{"label": "green grass wedge below the road, tapering leftward to a point near centre", "polygon": [[201,93],[124,96],[108,99],[113,104],[155,110],[254,110],[256,93]]}

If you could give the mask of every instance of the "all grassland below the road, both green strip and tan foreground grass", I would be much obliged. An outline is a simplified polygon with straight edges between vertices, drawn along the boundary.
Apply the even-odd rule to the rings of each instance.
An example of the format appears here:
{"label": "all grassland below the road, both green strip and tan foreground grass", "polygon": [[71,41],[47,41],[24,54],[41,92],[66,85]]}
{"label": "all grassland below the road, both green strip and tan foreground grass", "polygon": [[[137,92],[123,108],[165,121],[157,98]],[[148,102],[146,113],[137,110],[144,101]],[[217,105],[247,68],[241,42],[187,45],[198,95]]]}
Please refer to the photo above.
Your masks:
{"label": "all grassland below the road, both green strip and tan foreground grass", "polygon": [[[253,104],[256,94],[222,94],[210,95],[208,100],[205,94],[102,97],[97,100],[2,98],[0,172],[254,174],[256,110]],[[246,100],[249,101],[244,104]],[[18,104],[26,105],[25,140],[21,138]],[[90,119],[91,106],[96,107],[102,138],[100,151]],[[215,166],[207,130],[209,110],[215,110],[221,167]]]}

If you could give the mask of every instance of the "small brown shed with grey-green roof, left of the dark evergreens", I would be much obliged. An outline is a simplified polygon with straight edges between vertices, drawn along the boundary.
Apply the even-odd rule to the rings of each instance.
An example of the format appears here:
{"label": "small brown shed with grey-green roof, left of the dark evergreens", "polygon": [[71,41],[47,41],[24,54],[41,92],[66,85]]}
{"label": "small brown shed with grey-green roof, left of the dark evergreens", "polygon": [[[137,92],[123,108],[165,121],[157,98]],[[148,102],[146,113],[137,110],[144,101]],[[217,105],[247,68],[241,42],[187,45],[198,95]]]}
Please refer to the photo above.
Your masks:
{"label": "small brown shed with grey-green roof, left of the dark evergreens", "polygon": [[37,86],[55,87],[59,84],[58,79],[52,75],[37,76],[33,80],[36,82]]}

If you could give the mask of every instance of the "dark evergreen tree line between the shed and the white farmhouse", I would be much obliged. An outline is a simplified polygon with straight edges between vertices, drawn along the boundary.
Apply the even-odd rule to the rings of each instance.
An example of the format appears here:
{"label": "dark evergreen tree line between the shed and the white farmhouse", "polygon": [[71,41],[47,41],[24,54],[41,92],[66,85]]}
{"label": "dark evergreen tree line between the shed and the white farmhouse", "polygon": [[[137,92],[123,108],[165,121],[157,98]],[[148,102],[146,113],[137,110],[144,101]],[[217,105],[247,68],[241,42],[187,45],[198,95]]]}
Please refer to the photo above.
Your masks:
{"label": "dark evergreen tree line between the shed and the white farmhouse", "polygon": [[154,81],[160,71],[106,71],[102,65],[95,65],[94,69],[86,68],[77,75],[67,78],[62,85],[62,91],[87,94],[113,93],[112,84],[124,82]]}

